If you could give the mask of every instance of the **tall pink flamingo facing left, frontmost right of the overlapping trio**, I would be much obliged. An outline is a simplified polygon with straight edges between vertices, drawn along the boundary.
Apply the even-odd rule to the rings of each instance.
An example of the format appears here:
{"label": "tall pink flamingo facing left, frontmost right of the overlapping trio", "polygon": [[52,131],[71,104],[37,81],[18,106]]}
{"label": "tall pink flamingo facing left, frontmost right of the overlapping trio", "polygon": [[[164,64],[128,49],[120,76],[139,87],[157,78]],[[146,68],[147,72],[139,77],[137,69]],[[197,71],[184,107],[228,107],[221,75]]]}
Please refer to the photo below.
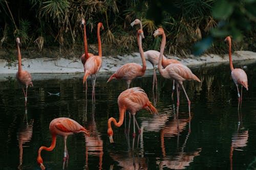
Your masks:
{"label": "tall pink flamingo facing left, frontmost right of the overlapping trio", "polygon": [[164,51],[164,47],[165,47],[165,43],[166,43],[166,36],[165,36],[164,30],[162,28],[159,28],[154,32],[154,37],[156,37],[158,35],[162,35],[161,50],[160,50],[160,56],[159,56],[159,61],[158,61],[158,71],[160,72],[160,74],[163,78],[165,78],[165,79],[173,78],[176,82],[176,85],[177,85],[177,117],[179,114],[179,105],[180,105],[179,84],[182,86],[183,91],[187,98],[188,112],[189,112],[189,118],[190,118],[190,100],[189,100],[186,90],[183,86],[183,81],[185,81],[185,80],[196,80],[198,82],[201,82],[201,81],[196,75],[193,74],[193,72],[187,66],[185,66],[183,64],[174,63],[174,64],[169,64],[165,68],[162,68],[163,51]]}

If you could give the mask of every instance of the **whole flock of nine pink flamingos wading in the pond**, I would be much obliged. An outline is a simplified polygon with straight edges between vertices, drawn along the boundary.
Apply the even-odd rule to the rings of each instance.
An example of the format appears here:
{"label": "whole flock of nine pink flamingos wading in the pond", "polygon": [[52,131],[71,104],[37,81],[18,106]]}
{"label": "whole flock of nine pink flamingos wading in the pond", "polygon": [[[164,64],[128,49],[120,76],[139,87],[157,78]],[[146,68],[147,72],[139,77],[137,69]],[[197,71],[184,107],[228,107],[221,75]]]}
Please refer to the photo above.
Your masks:
{"label": "whole flock of nine pink flamingos wading in the pond", "polygon": [[[83,28],[83,41],[84,41],[84,54],[81,56],[81,62],[84,68],[84,76],[83,76],[83,84],[86,83],[86,90],[87,86],[87,78],[90,75],[92,80],[92,96],[95,101],[95,84],[97,74],[102,65],[102,50],[101,50],[101,39],[100,39],[100,30],[103,30],[104,27],[101,22],[98,23],[97,26],[97,39],[98,39],[98,55],[94,55],[88,52],[88,44],[87,44],[87,34],[86,34],[86,20],[81,20],[82,28]],[[180,105],[180,87],[183,89],[184,94],[187,99],[188,103],[188,114],[189,114],[189,123],[191,119],[190,115],[190,100],[188,94],[183,86],[183,82],[185,80],[195,80],[197,82],[201,82],[201,80],[193,74],[193,72],[180,61],[175,59],[167,59],[163,53],[166,44],[166,35],[164,33],[163,28],[159,28],[154,32],[154,37],[161,36],[161,47],[160,52],[155,50],[149,50],[143,52],[142,48],[142,39],[144,38],[142,22],[139,19],[135,19],[131,26],[140,25],[140,29],[136,33],[136,39],[139,47],[139,54],[141,57],[142,65],[138,63],[127,63],[123,66],[119,67],[115,73],[108,79],[107,83],[112,79],[123,79],[127,83],[127,89],[120,93],[117,99],[117,104],[119,108],[119,120],[114,117],[110,117],[106,120],[106,126],[108,126],[108,136],[111,143],[114,142],[114,132],[112,129],[112,123],[116,127],[120,127],[123,124],[125,118],[125,111],[129,111],[130,118],[131,115],[133,116],[133,149],[134,149],[134,138],[136,136],[136,126],[138,129],[138,133],[141,133],[140,126],[135,118],[136,113],[142,109],[147,110],[148,112],[158,114],[158,111],[155,106],[152,105],[150,100],[147,97],[146,92],[141,87],[132,87],[130,88],[131,82],[138,78],[142,77],[146,71],[146,60],[149,61],[153,65],[154,75],[153,75],[153,92],[157,90],[157,74],[156,68],[164,79],[173,79],[173,92],[172,92],[172,99],[176,84],[177,90],[177,124],[178,124],[178,113],[179,113],[179,105]],[[231,69],[231,77],[234,81],[234,84],[237,87],[238,91],[238,106],[241,107],[242,105],[242,89],[243,87],[248,90],[248,80],[247,75],[243,69],[240,68],[233,68],[232,58],[231,58],[231,37],[227,36],[225,41],[229,44],[229,65]],[[16,79],[20,85],[23,86],[23,93],[25,96],[25,106],[27,106],[27,93],[28,93],[28,86],[33,87],[32,77],[31,74],[22,69],[22,58],[20,55],[20,39],[16,38],[17,43],[17,52],[18,52],[18,71],[16,73]],[[156,67],[158,65],[158,67]],[[26,87],[26,92],[24,89]],[[239,86],[241,86],[241,93],[239,90]],[[190,124],[189,124],[190,125]],[[130,128],[130,125],[129,125]],[[179,129],[179,126],[177,127]],[[44,162],[41,157],[41,151],[52,151],[56,145],[56,136],[62,136],[64,140],[64,152],[63,152],[63,165],[62,169],[65,169],[65,164],[68,166],[69,154],[67,149],[67,137],[72,134],[83,133],[86,136],[86,139],[89,140],[90,132],[83,126],[81,126],[78,122],[71,118],[67,117],[58,117],[53,119],[49,125],[50,134],[52,136],[52,143],[50,147],[42,146],[38,149],[38,156],[37,156],[37,163],[39,164],[41,169],[46,169]],[[189,128],[190,132],[190,128]],[[93,139],[93,138],[92,138]],[[98,139],[97,139],[98,140]],[[101,140],[101,139],[100,139]],[[103,143],[103,141],[102,141]],[[90,145],[90,143],[89,143]],[[103,154],[103,151],[102,151]],[[102,157],[102,155],[101,155]],[[102,158],[101,158],[102,159]]]}

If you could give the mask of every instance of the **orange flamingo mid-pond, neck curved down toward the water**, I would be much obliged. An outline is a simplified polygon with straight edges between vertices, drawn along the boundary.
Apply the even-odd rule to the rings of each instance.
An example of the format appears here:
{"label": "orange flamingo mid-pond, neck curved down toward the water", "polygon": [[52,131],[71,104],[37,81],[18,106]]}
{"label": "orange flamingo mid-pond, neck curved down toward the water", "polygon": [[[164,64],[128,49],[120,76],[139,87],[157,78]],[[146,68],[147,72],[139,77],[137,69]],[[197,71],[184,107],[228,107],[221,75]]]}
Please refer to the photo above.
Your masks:
{"label": "orange flamingo mid-pond, neck curved down toward the water", "polygon": [[[137,120],[135,118],[136,112],[141,109],[146,109],[147,111],[150,111],[152,114],[154,113],[158,114],[156,108],[148,100],[147,94],[140,87],[129,88],[121,92],[120,95],[118,96],[117,103],[119,107],[118,123],[116,122],[116,119],[114,117],[111,117],[108,120],[108,136],[111,143],[114,142],[111,123],[113,122],[116,127],[120,127],[123,124],[125,110],[128,110],[133,115],[133,130],[134,130],[133,139],[135,138],[135,122],[138,126]],[[139,129],[139,126],[138,126],[138,129]],[[139,133],[140,133],[140,129],[139,129]]]}

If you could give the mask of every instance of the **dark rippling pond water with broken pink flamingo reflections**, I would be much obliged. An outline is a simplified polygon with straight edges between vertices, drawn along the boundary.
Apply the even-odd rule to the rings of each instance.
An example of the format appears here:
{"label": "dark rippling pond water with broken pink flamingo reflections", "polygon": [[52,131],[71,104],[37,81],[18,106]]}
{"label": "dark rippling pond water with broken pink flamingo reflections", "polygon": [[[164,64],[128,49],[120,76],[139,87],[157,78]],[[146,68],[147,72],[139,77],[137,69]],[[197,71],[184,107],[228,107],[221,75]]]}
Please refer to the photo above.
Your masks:
{"label": "dark rippling pond water with broken pink flamingo reflections", "polygon": [[[255,169],[256,64],[234,63],[235,67],[244,65],[249,91],[243,90],[240,112],[228,65],[192,69],[202,83],[184,83],[191,101],[190,133],[184,93],[181,91],[178,131],[176,102],[172,102],[170,95],[172,81],[158,75],[159,115],[145,110],[136,114],[142,132],[135,137],[134,152],[132,130],[125,135],[124,125],[112,126],[114,144],[107,135],[108,118],[119,117],[117,98],[126,88],[125,81],[112,80],[106,84],[110,74],[101,74],[96,83],[96,102],[92,103],[91,80],[86,99],[82,75],[47,79],[49,75],[32,74],[34,87],[28,89],[25,108],[15,76],[8,77],[0,82],[0,169],[39,169],[37,151],[41,145],[51,144],[49,123],[56,117],[70,117],[91,131],[90,137],[68,137],[68,169]],[[136,79],[131,86],[143,88],[154,103],[153,74],[147,74],[150,76]],[[63,139],[58,136],[53,151],[42,151],[47,169],[62,168],[63,150]]]}

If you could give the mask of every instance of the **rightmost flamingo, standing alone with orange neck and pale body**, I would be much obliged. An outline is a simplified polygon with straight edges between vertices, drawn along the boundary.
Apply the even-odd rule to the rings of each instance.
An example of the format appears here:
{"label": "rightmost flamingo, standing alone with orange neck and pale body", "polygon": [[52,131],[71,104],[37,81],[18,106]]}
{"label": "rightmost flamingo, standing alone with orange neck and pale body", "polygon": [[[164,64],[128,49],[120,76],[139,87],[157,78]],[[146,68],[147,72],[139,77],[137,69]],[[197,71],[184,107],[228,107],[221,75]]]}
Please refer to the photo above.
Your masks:
{"label": "rightmost flamingo, standing alone with orange neck and pale body", "polygon": [[[242,105],[242,92],[243,92],[243,87],[248,90],[248,80],[247,80],[247,75],[245,71],[241,68],[234,68],[233,63],[232,63],[232,58],[231,58],[231,38],[230,36],[227,36],[225,41],[228,41],[228,47],[229,47],[229,66],[231,69],[231,77],[234,81],[234,84],[237,86],[238,90],[238,106],[241,104]],[[241,85],[241,96],[239,93],[239,85]],[[240,105],[240,107],[241,107]]]}

